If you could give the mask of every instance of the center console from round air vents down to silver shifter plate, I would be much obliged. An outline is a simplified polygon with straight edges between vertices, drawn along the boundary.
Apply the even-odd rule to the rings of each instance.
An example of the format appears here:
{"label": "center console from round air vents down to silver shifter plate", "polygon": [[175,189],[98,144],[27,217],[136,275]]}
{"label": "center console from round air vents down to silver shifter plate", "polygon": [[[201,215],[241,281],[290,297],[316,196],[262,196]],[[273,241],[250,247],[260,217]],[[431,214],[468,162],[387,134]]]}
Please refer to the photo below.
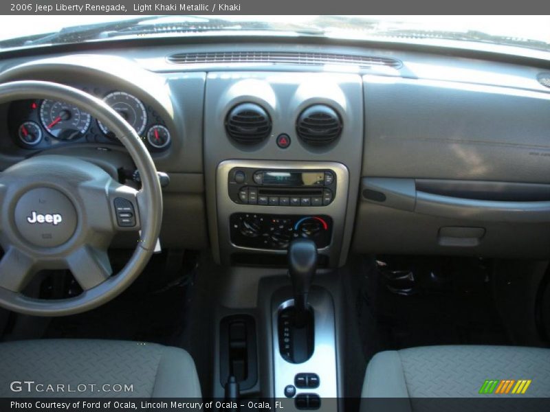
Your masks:
{"label": "center console from round air vents down to silver shifter plate", "polygon": [[[210,244],[214,261],[231,278],[231,305],[223,314],[239,316],[221,323],[227,332],[219,345],[229,349],[220,362],[233,367],[220,368],[216,385],[231,389],[232,379],[239,381],[236,398],[283,399],[287,411],[340,409],[341,312],[331,288],[337,282],[327,279],[346,262],[351,244],[363,101],[362,78],[354,73],[207,75],[203,160]],[[256,290],[255,308],[232,301]],[[249,382],[256,363],[248,349],[256,341],[248,337],[254,327],[245,314],[257,321],[259,391]],[[252,367],[235,367],[243,362]]]}

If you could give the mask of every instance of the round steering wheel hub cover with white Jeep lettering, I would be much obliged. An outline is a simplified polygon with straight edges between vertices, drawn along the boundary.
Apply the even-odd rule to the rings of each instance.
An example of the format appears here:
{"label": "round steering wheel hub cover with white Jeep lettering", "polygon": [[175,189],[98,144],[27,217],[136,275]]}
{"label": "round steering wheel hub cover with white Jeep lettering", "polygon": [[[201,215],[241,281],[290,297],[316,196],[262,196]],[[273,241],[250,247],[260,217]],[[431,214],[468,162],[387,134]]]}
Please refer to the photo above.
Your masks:
{"label": "round steering wheel hub cover with white Jeep lettering", "polygon": [[51,187],[39,187],[23,194],[15,207],[14,217],[21,236],[38,247],[60,246],[76,230],[74,205],[67,196]]}

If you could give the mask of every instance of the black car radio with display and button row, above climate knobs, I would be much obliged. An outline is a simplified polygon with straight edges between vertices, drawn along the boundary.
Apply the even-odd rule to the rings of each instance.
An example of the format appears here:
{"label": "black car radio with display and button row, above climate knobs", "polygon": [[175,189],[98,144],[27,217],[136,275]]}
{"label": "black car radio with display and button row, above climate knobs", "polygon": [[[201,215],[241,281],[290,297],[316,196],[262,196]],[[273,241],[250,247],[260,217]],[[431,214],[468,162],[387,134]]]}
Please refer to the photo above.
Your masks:
{"label": "black car radio with display and button row, above climate knobs", "polygon": [[336,193],[332,170],[232,168],[231,200],[240,205],[327,206]]}

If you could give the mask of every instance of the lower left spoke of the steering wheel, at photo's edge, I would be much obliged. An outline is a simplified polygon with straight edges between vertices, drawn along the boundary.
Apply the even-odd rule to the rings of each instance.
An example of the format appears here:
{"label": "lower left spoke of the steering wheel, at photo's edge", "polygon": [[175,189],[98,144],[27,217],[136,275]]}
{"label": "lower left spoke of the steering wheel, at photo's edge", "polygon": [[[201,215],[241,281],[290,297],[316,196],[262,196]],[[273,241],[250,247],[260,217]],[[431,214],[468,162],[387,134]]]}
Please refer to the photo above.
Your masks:
{"label": "lower left spoke of the steering wheel, at photo's edge", "polygon": [[21,292],[34,275],[34,260],[16,247],[10,247],[0,260],[0,288]]}

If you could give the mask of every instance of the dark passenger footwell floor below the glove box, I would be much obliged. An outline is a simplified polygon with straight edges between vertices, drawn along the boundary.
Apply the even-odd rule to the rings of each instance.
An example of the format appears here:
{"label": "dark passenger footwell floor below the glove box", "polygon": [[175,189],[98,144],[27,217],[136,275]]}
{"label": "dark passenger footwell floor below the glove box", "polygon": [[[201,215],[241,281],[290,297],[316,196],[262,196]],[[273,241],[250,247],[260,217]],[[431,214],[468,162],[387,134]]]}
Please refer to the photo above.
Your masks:
{"label": "dark passenger footwell floor below the glove box", "polygon": [[489,268],[466,258],[366,258],[358,317],[367,359],[423,345],[509,345]]}

